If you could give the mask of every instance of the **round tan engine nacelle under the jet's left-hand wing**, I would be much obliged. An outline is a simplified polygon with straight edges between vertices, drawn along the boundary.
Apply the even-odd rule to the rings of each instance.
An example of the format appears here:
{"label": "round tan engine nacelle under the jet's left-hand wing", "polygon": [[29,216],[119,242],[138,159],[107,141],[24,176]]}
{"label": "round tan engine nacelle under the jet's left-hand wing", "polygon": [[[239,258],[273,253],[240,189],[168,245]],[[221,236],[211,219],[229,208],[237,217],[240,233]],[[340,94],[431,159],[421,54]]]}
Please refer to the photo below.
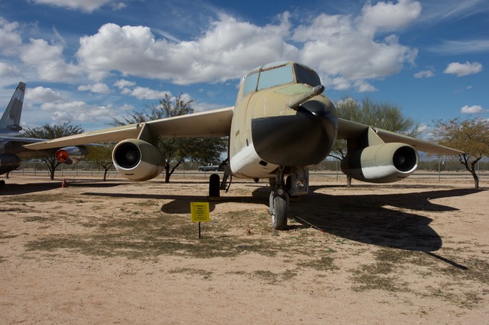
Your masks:
{"label": "round tan engine nacelle under the jet's left-hand wing", "polygon": [[126,139],[112,151],[116,170],[129,180],[151,180],[163,172],[165,159],[151,143],[139,139]]}

